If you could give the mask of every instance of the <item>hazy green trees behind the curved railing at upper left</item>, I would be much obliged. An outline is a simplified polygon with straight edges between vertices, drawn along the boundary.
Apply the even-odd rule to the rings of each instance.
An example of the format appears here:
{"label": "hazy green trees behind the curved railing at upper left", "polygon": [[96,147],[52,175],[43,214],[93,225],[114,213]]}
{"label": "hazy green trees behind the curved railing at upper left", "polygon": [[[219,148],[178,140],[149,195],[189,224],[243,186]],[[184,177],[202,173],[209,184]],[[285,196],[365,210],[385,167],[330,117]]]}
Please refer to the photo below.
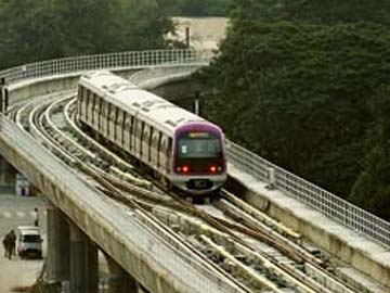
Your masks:
{"label": "hazy green trees behind the curved railing at upper left", "polygon": [[166,48],[176,0],[0,0],[0,67],[79,54]]}

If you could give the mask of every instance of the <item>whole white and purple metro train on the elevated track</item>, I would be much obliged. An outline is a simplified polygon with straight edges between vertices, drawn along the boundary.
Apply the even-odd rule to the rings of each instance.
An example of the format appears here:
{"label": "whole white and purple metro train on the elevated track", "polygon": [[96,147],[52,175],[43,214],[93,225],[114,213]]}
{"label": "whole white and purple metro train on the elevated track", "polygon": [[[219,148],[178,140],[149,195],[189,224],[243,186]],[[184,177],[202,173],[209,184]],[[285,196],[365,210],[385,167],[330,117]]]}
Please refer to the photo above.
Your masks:
{"label": "whole white and purple metro train on the elevated track", "polygon": [[218,126],[110,72],[80,77],[77,118],[168,188],[190,196],[211,194],[226,180]]}

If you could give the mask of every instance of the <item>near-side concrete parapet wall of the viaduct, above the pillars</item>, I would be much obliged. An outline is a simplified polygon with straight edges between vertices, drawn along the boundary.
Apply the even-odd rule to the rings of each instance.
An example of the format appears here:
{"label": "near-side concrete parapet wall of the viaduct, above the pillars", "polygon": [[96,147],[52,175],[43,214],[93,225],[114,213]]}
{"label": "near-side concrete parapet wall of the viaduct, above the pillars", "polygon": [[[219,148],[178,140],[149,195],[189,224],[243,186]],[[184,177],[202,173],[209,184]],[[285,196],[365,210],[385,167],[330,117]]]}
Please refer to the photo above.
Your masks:
{"label": "near-side concrete parapet wall of the viaduct, above the pillars", "polygon": [[[3,127],[4,118],[1,118],[0,126]],[[147,257],[133,244],[136,241],[131,238],[135,235],[122,231],[131,219],[126,209],[113,206],[113,201],[96,190],[90,190],[49,151],[42,146],[38,151],[37,143],[27,135],[25,138],[27,141],[24,145],[21,143],[24,138],[20,133],[14,138],[12,133],[0,131],[0,153],[17,169],[23,169],[29,180],[73,222],[150,292],[191,292],[184,283],[173,279],[155,259]],[[115,220],[110,219],[110,215],[115,215]]]}

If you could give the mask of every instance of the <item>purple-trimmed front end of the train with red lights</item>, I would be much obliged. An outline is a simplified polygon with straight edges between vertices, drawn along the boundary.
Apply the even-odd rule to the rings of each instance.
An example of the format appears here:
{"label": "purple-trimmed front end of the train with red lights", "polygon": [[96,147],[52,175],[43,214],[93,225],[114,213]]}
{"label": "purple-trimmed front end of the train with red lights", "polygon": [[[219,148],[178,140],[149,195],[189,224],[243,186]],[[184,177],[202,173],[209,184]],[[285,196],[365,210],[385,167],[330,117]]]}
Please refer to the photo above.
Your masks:
{"label": "purple-trimmed front end of the train with red lights", "polygon": [[176,129],[171,182],[191,194],[209,194],[226,180],[224,139],[209,123],[191,123]]}

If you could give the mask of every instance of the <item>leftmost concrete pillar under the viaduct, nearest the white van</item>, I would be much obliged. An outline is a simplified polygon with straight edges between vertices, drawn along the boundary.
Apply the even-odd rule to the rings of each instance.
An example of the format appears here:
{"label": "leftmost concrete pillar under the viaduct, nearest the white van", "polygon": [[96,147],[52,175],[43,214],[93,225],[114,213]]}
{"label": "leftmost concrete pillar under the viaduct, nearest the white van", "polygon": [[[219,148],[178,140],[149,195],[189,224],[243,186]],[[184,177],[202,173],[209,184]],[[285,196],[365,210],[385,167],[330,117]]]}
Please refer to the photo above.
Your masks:
{"label": "leftmost concrete pillar under the viaduct, nearest the white van", "polygon": [[56,283],[69,280],[69,228],[60,209],[48,207],[47,281]]}

